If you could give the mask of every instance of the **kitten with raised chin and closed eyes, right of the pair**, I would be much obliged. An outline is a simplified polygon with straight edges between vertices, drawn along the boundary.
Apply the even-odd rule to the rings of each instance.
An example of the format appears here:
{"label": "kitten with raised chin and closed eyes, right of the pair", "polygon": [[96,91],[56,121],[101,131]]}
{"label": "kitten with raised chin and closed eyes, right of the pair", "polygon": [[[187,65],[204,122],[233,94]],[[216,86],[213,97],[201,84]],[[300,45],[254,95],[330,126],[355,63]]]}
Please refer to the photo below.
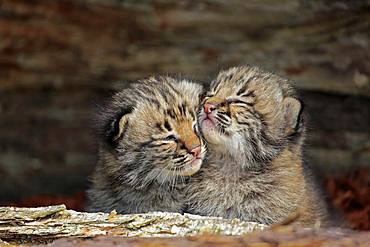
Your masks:
{"label": "kitten with raised chin and closed eyes, right of the pair", "polygon": [[199,113],[208,153],[187,190],[193,214],[325,224],[326,207],[301,149],[302,104],[288,81],[255,67],[221,72]]}

